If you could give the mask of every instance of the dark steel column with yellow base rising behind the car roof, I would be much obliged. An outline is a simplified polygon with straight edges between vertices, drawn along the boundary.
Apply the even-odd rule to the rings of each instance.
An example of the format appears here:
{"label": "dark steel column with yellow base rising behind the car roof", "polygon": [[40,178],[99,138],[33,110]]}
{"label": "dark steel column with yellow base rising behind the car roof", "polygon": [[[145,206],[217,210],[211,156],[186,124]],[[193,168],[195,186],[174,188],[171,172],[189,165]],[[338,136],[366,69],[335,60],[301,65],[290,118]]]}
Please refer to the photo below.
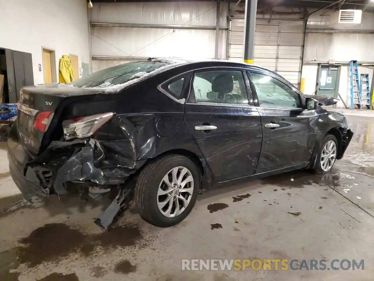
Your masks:
{"label": "dark steel column with yellow base rising behind the car roof", "polygon": [[244,34],[244,62],[253,64],[253,49],[255,43],[257,0],[245,1],[245,34]]}

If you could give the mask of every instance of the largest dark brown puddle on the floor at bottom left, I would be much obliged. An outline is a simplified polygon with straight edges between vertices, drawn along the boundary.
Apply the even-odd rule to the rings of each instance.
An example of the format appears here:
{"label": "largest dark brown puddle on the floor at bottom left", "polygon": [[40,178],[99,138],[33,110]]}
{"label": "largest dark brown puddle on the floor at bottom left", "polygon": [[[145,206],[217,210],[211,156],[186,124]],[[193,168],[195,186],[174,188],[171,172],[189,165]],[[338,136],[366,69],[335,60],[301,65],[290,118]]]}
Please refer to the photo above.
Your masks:
{"label": "largest dark brown puddle on the floor at bottom left", "polygon": [[[74,253],[89,256],[95,251],[96,246],[101,246],[102,251],[107,251],[117,247],[134,246],[141,239],[143,239],[141,231],[135,225],[115,226],[98,234],[87,234],[64,223],[46,224],[35,229],[29,236],[20,239],[22,246],[0,253],[0,280],[11,280],[11,277],[17,280],[17,275],[9,271],[18,268],[20,264],[34,268],[44,262],[59,262]],[[5,274],[7,274],[7,279],[1,278]],[[55,274],[50,279],[42,280],[73,281],[77,279],[69,275],[57,276]]]}

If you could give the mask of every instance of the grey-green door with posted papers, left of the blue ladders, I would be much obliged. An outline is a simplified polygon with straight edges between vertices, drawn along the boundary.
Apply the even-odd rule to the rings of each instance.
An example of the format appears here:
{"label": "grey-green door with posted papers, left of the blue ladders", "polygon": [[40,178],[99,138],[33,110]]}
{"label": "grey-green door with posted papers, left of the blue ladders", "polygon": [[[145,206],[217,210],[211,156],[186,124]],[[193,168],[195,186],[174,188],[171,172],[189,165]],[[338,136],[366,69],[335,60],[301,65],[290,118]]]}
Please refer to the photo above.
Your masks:
{"label": "grey-green door with posted papers, left of the blue ladders", "polygon": [[319,96],[338,97],[339,66],[321,65],[318,77]]}

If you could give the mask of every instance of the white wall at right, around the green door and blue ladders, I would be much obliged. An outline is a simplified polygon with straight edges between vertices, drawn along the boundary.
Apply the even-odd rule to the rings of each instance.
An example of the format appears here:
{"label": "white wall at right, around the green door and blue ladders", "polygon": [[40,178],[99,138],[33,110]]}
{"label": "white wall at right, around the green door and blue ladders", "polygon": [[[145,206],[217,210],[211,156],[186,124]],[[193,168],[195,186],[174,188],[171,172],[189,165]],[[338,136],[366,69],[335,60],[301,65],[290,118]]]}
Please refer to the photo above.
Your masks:
{"label": "white wall at right, around the green door and blue ladders", "polygon": [[[370,85],[373,82],[374,52],[368,50],[374,46],[374,14],[362,13],[361,24],[341,25],[332,22],[332,13],[317,13],[308,20],[302,73],[306,78],[304,93],[315,91],[318,63],[334,60],[341,64],[338,93],[350,107],[349,62],[357,60],[359,64],[371,65],[359,66],[359,74],[369,74]],[[343,101],[338,102],[338,108],[344,107]]]}

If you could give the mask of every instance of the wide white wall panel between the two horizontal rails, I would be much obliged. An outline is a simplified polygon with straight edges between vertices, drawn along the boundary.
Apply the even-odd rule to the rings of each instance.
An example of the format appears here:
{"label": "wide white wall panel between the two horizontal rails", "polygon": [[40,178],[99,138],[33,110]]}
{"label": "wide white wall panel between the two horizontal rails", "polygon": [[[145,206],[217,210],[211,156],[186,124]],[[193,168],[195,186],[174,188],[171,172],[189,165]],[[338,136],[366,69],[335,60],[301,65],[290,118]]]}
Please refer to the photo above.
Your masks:
{"label": "wide white wall panel between the two horizontal rails", "polygon": [[92,56],[214,58],[215,30],[92,27]]}

